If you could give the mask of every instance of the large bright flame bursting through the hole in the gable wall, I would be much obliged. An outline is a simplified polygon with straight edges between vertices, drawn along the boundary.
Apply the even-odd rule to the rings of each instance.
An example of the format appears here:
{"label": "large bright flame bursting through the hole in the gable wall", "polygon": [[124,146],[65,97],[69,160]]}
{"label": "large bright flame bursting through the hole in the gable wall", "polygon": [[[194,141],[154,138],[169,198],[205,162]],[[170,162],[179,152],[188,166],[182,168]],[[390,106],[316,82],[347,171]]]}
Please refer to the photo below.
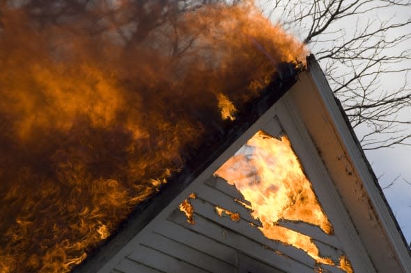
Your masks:
{"label": "large bright flame bursting through the hole in the gable wall", "polygon": [[333,233],[286,136],[278,140],[258,131],[215,174],[235,185],[251,203],[251,215],[261,221],[258,229],[265,237],[303,249],[317,263],[334,265],[331,258],[320,256],[309,236],[278,224],[281,220],[302,221]]}

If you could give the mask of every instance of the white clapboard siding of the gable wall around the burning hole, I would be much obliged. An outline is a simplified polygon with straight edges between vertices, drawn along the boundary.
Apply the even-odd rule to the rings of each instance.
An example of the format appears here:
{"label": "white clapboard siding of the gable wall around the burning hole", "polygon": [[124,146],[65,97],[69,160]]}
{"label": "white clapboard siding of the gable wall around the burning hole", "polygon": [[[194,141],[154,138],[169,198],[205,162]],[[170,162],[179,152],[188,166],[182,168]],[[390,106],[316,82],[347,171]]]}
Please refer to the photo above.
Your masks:
{"label": "white clapboard siding of the gable wall around the burning hole", "polygon": [[[305,251],[265,238],[258,229],[261,222],[235,199],[246,204],[247,201],[224,179],[211,177],[194,193],[196,199],[189,199],[194,208],[194,224],[189,224],[185,214],[176,208],[141,238],[138,247],[118,263],[114,272],[315,272],[316,262]],[[240,221],[234,222],[226,215],[220,217],[216,206],[239,213]],[[339,263],[343,252],[334,235],[304,223],[281,222],[281,226],[309,235],[322,256]],[[343,272],[336,267],[322,267],[330,273]]]}

